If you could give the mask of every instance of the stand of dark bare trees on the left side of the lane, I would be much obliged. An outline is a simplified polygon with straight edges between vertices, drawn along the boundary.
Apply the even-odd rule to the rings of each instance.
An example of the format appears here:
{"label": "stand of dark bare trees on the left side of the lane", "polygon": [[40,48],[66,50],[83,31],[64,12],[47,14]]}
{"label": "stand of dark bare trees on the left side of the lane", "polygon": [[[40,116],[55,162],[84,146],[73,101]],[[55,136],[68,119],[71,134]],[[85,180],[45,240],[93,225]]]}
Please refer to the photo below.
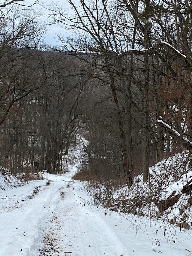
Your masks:
{"label": "stand of dark bare trees on the left side of the lane", "polygon": [[13,7],[3,11],[1,165],[12,172],[26,171],[39,158],[42,169],[57,173],[82,125],[81,95],[87,80],[74,73],[76,60],[43,43],[45,29],[32,12]]}

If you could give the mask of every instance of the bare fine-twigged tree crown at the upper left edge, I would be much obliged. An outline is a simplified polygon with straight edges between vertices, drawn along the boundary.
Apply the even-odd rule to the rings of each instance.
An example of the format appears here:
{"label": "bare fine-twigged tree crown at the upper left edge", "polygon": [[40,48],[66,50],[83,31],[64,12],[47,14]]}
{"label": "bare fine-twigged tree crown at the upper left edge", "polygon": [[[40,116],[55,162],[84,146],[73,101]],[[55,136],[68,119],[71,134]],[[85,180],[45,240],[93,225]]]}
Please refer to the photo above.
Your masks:
{"label": "bare fine-twigged tree crown at the upper left edge", "polygon": [[[42,85],[33,82],[36,67],[32,70],[30,65],[34,62],[33,50],[37,49],[44,28],[40,27],[34,15],[19,10],[9,14],[9,19],[1,20],[0,26],[1,125],[17,101]],[[28,81],[24,74],[27,72],[31,74]]]}

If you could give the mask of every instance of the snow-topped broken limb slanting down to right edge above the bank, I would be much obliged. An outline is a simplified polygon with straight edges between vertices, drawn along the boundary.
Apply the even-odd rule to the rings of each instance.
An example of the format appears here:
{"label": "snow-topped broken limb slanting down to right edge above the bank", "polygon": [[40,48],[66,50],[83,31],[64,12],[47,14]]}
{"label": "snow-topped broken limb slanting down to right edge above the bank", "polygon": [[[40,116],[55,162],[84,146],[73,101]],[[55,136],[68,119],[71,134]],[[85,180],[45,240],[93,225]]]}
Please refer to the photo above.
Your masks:
{"label": "snow-topped broken limb slanting down to right edge above the bank", "polygon": [[165,121],[162,120],[162,117],[160,116],[161,119],[157,119],[158,125],[169,135],[174,137],[176,141],[181,144],[184,148],[188,150],[192,150],[192,142],[188,140],[185,137],[182,137],[178,131],[173,129],[170,125],[168,125]]}

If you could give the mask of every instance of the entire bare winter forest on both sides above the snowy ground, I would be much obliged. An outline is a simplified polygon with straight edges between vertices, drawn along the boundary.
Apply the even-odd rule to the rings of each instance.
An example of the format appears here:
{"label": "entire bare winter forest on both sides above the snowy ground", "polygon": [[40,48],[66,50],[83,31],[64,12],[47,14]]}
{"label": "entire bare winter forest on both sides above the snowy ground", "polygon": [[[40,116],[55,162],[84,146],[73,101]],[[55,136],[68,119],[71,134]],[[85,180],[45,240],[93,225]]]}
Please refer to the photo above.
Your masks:
{"label": "entire bare winter forest on both sides above the snowy ground", "polygon": [[[150,184],[183,151],[191,167],[191,1],[48,2],[0,3],[0,165],[62,173],[80,133],[89,179]],[[51,24],[72,36],[47,44]]]}

